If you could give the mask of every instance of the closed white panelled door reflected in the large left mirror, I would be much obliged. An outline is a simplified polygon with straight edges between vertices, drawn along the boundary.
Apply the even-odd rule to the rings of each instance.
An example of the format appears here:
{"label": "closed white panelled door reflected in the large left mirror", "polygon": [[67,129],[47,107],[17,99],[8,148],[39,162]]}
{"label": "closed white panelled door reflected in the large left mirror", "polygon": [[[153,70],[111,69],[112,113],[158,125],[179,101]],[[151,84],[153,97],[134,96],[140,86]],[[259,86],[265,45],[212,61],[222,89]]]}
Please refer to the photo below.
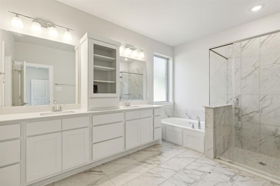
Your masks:
{"label": "closed white panelled door reflected in the large left mirror", "polygon": [[31,105],[49,105],[49,81],[31,79]]}

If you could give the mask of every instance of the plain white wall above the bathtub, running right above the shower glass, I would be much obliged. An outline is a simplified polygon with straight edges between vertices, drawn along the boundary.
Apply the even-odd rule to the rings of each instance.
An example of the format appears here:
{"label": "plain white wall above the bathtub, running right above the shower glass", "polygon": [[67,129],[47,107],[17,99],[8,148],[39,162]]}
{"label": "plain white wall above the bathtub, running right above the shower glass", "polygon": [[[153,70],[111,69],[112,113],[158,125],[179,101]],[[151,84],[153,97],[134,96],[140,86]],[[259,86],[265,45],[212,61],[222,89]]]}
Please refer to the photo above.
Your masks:
{"label": "plain white wall above the bathtub, running right above the shower glass", "polygon": [[174,47],[175,113],[209,105],[209,48],[279,29],[280,12]]}

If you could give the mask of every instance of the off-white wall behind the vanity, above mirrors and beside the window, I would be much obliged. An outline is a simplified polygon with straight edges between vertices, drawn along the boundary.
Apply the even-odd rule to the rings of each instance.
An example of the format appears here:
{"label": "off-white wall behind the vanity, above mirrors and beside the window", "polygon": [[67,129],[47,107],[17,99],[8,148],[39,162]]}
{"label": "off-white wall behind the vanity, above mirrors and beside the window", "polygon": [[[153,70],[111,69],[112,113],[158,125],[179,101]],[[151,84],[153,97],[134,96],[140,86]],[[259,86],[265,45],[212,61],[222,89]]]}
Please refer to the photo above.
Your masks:
{"label": "off-white wall behind the vanity, above mirrors and beside the window", "polygon": [[[95,33],[104,38],[109,38],[123,44],[131,45],[136,48],[145,50],[145,57],[142,59],[147,62],[147,92],[150,97],[147,98],[148,103],[153,103],[153,56],[154,52],[173,57],[173,47],[155,41],[121,26],[90,15],[76,8],[67,6],[54,0],[48,1],[1,1],[0,23],[2,29],[8,29],[17,32],[28,33],[32,22],[27,19],[22,19],[25,24],[23,30],[16,30],[11,27],[11,19],[13,15],[8,11],[14,11],[19,14],[36,17],[43,20],[48,20],[54,24],[69,27],[74,30],[72,32],[72,44],[78,45],[80,38],[86,33]],[[27,24],[28,23],[28,24]],[[148,28],[147,28],[148,29]],[[57,29],[60,34],[59,40],[62,38],[63,29]],[[48,38],[47,32],[43,31],[41,35]],[[40,36],[40,37],[41,37]],[[61,40],[63,41],[63,40]]]}

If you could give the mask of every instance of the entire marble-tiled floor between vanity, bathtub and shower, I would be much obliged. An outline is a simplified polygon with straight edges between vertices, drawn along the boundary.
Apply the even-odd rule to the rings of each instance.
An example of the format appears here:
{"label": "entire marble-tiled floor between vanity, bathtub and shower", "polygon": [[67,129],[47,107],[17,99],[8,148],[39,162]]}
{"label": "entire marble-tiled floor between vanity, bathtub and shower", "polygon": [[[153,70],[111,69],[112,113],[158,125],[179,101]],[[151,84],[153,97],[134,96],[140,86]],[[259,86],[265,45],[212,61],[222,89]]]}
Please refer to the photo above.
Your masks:
{"label": "entire marble-tiled floor between vanity, bathtub and shower", "polygon": [[48,186],[280,186],[166,141]]}

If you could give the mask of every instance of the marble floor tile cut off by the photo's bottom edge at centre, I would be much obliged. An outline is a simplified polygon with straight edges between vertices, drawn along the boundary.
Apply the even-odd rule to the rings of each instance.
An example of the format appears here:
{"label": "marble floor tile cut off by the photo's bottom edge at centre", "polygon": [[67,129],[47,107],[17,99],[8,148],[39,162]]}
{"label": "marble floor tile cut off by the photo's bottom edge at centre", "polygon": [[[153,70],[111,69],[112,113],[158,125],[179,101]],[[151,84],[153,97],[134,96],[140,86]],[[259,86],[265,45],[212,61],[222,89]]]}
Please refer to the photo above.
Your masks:
{"label": "marble floor tile cut off by the photo's bottom edge at centre", "polygon": [[124,184],[123,186],[158,186],[165,180],[166,179],[163,176],[157,174],[153,170],[150,170]]}

